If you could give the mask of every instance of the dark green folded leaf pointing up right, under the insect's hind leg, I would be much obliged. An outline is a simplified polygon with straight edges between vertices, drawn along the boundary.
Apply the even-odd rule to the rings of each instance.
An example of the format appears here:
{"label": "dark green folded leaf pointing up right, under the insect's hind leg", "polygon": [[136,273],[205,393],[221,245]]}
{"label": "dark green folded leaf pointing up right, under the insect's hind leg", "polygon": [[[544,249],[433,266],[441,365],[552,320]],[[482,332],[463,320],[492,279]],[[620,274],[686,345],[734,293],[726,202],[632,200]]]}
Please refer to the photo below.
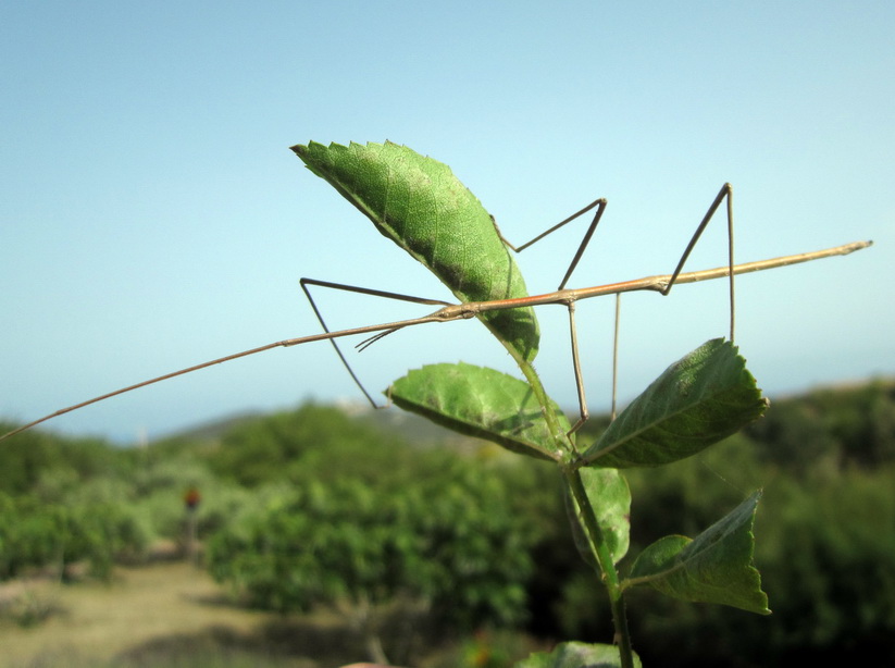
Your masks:
{"label": "dark green folded leaf pointing up right, under the insect's hind leg", "polygon": [[669,463],[736,433],[767,408],[736,346],[714,338],[666,369],[583,459],[613,468]]}

